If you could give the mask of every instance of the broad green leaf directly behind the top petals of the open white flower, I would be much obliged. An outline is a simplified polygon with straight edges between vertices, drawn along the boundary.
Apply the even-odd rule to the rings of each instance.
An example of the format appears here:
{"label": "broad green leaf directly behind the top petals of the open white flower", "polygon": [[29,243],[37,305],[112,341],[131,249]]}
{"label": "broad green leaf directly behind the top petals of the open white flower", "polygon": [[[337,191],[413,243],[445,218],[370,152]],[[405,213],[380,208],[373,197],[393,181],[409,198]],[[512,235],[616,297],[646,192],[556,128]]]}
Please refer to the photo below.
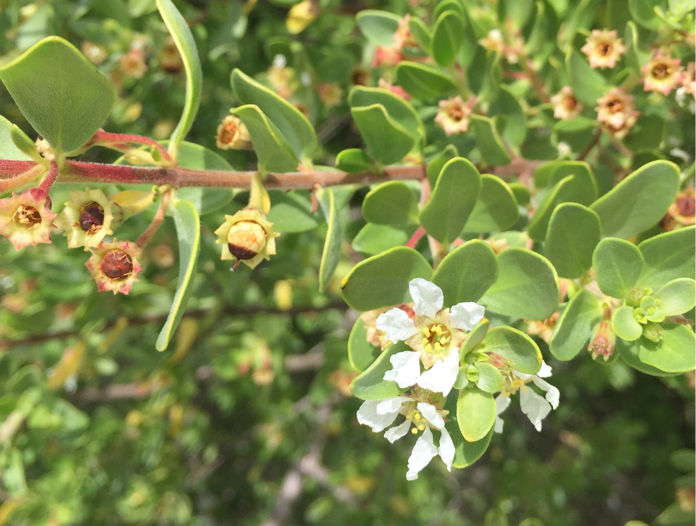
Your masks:
{"label": "broad green leaf directly behind the top petals of the open white flower", "polygon": [[484,241],[472,239],[458,246],[438,265],[432,282],[442,289],[446,307],[477,301],[496,282],[496,253]]}

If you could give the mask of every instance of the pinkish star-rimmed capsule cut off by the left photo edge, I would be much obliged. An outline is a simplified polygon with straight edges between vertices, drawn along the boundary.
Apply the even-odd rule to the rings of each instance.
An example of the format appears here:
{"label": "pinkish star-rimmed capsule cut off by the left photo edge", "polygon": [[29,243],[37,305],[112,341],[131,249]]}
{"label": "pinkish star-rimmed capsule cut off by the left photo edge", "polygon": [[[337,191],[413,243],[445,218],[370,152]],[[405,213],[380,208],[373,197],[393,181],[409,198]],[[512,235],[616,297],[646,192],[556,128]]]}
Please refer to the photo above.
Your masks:
{"label": "pinkish star-rimmed capsule cut off by the left photo edge", "polygon": [[0,199],[0,235],[17,250],[50,243],[53,220],[58,215],[50,206],[49,197],[35,188]]}

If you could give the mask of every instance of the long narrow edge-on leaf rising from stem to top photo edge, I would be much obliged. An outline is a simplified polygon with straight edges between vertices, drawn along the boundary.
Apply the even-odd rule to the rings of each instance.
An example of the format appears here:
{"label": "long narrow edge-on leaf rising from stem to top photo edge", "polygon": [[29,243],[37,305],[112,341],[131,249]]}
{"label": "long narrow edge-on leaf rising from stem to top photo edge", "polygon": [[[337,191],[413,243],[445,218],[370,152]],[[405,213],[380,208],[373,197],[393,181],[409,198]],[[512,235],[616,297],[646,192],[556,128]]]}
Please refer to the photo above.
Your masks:
{"label": "long narrow edge-on leaf rising from stem to top photo edge", "polygon": [[177,127],[174,129],[171,142],[169,143],[169,154],[176,157],[179,144],[189,133],[193,120],[198,113],[200,106],[200,93],[203,90],[203,72],[200,69],[200,58],[198,58],[198,48],[196,41],[193,40],[191,29],[181,13],[171,0],[157,0],[157,9],[164,23],[169,30],[174,43],[179,50],[184,70],[186,70],[186,99],[184,111]]}

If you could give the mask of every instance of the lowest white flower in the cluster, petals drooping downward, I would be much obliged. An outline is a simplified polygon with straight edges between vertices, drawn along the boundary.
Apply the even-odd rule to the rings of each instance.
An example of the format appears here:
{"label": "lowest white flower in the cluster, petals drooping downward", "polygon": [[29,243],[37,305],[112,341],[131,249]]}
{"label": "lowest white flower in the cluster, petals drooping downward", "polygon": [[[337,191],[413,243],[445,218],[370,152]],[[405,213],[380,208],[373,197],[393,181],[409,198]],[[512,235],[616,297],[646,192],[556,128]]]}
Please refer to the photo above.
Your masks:
{"label": "lowest white flower in the cluster, petals drooping downward", "polygon": [[[418,472],[437,455],[447,466],[447,470],[452,470],[454,461],[454,443],[450,433],[445,429],[443,415],[447,411],[438,409],[425,401],[418,401],[407,396],[387,398],[383,400],[368,400],[358,409],[358,422],[372,427],[372,431],[377,433],[383,431],[394,423],[399,414],[406,416],[406,420],[401,424],[387,429],[384,436],[391,443],[402,438],[411,429],[411,433],[417,434],[422,431],[422,435],[416,440],[411,456],[409,456],[409,470],[406,472],[407,480],[418,478]],[[440,431],[440,445],[435,446],[432,429]]]}

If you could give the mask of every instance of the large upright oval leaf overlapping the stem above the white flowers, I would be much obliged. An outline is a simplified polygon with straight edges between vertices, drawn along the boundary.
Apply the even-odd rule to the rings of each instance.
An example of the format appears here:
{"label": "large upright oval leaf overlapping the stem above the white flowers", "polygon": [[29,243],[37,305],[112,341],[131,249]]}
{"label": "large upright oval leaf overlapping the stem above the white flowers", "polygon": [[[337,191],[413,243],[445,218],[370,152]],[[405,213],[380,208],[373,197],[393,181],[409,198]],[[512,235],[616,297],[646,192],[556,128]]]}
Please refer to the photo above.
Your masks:
{"label": "large upright oval leaf overlapping the stem above the white flowers", "polygon": [[443,166],[430,200],[420,211],[420,224],[448,246],[457,239],[481,190],[481,176],[469,161],[456,157]]}

